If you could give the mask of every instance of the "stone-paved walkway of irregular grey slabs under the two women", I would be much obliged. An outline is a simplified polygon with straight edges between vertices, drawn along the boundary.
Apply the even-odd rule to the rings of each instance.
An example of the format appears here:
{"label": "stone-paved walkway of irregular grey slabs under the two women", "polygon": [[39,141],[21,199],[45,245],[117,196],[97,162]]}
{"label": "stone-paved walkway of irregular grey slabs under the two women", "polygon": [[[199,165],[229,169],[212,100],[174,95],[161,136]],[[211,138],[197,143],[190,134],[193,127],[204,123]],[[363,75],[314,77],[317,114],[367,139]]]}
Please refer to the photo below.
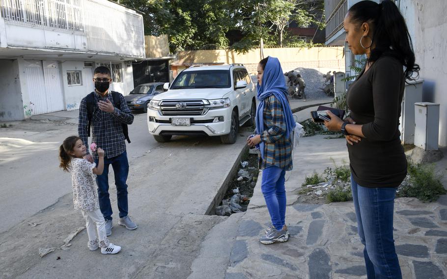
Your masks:
{"label": "stone-paved walkway of irregular grey slabs under the two women", "polygon": [[[366,278],[352,202],[287,207],[289,241],[263,245],[267,209],[247,211],[225,279]],[[447,206],[415,198],[395,202],[394,238],[405,279],[447,278]]]}

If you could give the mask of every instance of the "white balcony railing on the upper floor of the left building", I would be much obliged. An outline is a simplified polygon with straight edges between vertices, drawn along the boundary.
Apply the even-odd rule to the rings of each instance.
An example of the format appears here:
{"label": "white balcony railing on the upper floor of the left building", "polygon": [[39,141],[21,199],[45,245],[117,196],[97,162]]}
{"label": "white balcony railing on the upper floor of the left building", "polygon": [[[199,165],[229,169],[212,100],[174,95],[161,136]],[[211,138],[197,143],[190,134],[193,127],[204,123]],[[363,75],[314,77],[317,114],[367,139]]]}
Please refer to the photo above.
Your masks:
{"label": "white balcony railing on the upper floor of the left building", "polygon": [[16,23],[84,32],[82,0],[0,0],[1,17]]}

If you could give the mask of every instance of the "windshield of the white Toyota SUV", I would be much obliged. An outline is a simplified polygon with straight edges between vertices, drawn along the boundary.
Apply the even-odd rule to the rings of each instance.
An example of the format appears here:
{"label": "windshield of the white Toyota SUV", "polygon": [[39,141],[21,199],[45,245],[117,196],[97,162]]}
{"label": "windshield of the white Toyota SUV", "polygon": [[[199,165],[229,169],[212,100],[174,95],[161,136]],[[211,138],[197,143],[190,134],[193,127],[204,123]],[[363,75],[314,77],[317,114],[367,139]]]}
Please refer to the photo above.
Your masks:
{"label": "windshield of the white Toyota SUV", "polygon": [[181,72],[175,79],[170,89],[228,87],[231,87],[230,71],[203,70]]}

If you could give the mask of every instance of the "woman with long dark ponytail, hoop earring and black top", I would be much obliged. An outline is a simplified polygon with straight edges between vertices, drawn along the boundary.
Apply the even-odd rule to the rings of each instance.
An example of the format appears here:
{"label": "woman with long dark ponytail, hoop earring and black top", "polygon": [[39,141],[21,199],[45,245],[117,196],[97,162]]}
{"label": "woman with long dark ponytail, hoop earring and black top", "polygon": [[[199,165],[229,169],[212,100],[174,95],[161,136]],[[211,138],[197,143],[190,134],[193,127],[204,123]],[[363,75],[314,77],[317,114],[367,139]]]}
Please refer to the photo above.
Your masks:
{"label": "woman with long dark ponytail, hoop earring and black top", "polygon": [[407,174],[407,161],[398,127],[405,80],[414,80],[419,66],[405,20],[392,1],[358,2],[343,25],[349,49],[367,60],[346,94],[351,118],[343,121],[328,112],[331,121],[325,125],[341,131],[348,143],[367,277],[400,279],[392,223],[395,193]]}

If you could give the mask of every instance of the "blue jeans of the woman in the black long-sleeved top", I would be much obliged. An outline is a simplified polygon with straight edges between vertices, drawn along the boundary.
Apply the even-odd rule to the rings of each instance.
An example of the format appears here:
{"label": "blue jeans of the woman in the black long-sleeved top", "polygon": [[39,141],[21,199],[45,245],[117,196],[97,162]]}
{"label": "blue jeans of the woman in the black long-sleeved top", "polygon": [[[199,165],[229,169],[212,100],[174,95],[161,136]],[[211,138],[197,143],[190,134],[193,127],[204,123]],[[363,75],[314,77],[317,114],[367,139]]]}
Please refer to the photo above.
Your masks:
{"label": "blue jeans of the woman in the black long-sleeved top", "polygon": [[366,188],[351,175],[360,240],[368,279],[402,279],[393,239],[395,188]]}

